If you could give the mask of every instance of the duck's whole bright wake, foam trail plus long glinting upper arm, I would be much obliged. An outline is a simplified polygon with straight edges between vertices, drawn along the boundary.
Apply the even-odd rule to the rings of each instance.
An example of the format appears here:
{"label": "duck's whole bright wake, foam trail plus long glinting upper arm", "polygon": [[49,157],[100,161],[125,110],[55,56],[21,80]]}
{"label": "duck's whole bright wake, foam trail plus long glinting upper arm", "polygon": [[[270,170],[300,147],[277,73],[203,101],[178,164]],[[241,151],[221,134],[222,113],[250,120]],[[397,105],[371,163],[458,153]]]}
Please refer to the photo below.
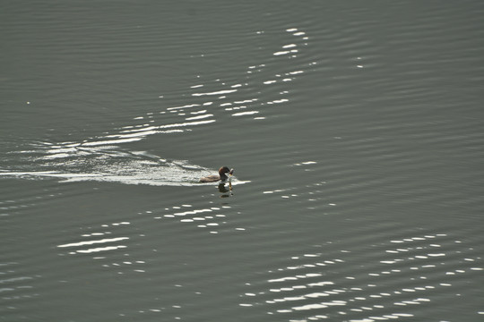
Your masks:
{"label": "duck's whole bright wake, foam trail plus long glinting upper arm", "polygon": [[[288,55],[290,66],[298,64],[298,47],[307,46],[306,32],[296,28],[286,30],[292,37],[291,43],[282,48],[292,48],[278,51],[273,55]],[[301,66],[302,67],[302,66]],[[305,66],[304,68],[307,68]],[[104,135],[92,137],[80,142],[27,142],[27,149],[9,151],[13,158],[25,161],[19,169],[18,162],[10,165],[11,169],[0,169],[0,176],[16,176],[29,178],[56,177],[65,182],[101,181],[120,182],[126,184],[151,185],[193,185],[202,177],[206,168],[192,165],[190,161],[172,160],[153,156],[143,151],[130,151],[118,148],[123,143],[133,143],[148,136],[170,135],[192,131],[197,126],[210,126],[224,117],[250,116],[254,120],[264,120],[266,116],[259,116],[266,106],[289,102],[288,89],[275,85],[275,89],[258,89],[253,97],[253,89],[260,86],[273,87],[272,84],[287,83],[295,80],[304,70],[292,72],[273,72],[266,64],[251,65],[246,75],[241,77],[243,83],[211,81],[210,84],[196,84],[190,86],[193,102],[182,106],[169,106],[161,111],[148,112],[135,116],[133,122],[114,131],[107,131]],[[261,75],[259,75],[261,74]],[[270,75],[270,76],[267,76]],[[264,80],[261,77],[271,77]],[[210,87],[210,89],[204,89]],[[217,90],[214,90],[217,89]],[[285,89],[285,90],[281,90]],[[236,95],[237,94],[237,95]],[[283,98],[264,101],[261,97],[273,95]],[[200,98],[199,98],[200,97]],[[205,98],[206,97],[206,98]],[[163,99],[160,96],[160,99]],[[183,98],[186,100],[186,98]],[[265,111],[267,115],[269,111]],[[234,184],[243,183],[234,179]],[[229,196],[229,195],[227,195]]]}

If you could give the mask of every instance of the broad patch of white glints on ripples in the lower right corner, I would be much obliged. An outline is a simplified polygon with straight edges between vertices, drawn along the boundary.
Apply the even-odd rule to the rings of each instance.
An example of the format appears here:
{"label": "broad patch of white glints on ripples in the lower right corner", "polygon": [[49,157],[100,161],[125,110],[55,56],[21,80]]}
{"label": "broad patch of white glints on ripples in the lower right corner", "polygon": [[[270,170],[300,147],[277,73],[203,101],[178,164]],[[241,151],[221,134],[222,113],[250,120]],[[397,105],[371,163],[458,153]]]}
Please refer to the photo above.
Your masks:
{"label": "broad patch of white glints on ripples in the lower right corner", "polygon": [[459,292],[463,281],[484,269],[476,265],[480,254],[445,233],[368,246],[332,256],[318,245],[292,256],[286,266],[267,271],[265,281],[247,283],[239,305],[290,321],[416,317],[413,306],[432,305],[443,292],[453,292],[449,288]]}

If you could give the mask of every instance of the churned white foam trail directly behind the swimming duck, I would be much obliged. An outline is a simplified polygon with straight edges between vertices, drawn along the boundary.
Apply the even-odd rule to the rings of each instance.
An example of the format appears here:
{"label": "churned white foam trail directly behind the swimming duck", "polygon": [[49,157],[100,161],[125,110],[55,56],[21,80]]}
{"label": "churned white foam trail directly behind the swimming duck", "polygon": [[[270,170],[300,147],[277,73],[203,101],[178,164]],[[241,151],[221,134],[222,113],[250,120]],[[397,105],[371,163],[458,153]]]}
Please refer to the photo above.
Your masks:
{"label": "churned white foam trail directly behind the swimming duck", "polygon": [[[5,171],[0,172],[4,177],[22,177],[26,179],[56,178],[61,182],[117,182],[123,184],[148,184],[154,186],[200,186],[199,179],[207,174],[216,174],[217,170],[204,168],[200,165],[190,165],[183,160],[166,161],[160,157],[151,156],[143,152],[125,152],[116,148],[106,150],[91,148],[86,151],[72,153],[74,163],[62,160],[48,160],[39,157],[37,161],[44,162],[52,171]],[[54,154],[55,155],[55,154]],[[35,161],[35,160],[34,160]],[[83,171],[80,172],[79,169]],[[231,177],[232,185],[246,183],[236,177]]]}

